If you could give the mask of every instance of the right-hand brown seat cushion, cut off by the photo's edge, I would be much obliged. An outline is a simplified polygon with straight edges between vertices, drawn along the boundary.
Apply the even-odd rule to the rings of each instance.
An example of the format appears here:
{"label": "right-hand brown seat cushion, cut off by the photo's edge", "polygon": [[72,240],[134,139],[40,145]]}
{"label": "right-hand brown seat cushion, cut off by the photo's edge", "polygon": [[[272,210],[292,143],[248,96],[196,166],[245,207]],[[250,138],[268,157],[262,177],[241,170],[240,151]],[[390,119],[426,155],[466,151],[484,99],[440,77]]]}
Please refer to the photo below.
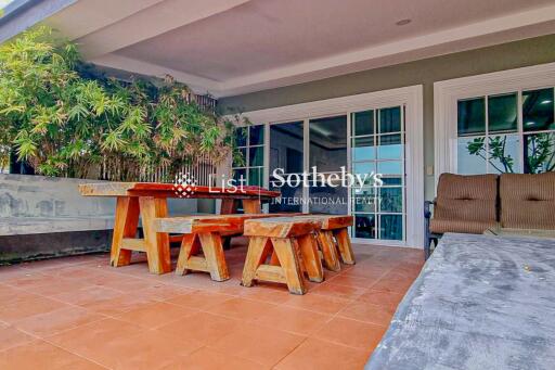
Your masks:
{"label": "right-hand brown seat cushion, cut off by the photo's edge", "polygon": [[555,229],[555,173],[503,174],[500,196],[503,228]]}

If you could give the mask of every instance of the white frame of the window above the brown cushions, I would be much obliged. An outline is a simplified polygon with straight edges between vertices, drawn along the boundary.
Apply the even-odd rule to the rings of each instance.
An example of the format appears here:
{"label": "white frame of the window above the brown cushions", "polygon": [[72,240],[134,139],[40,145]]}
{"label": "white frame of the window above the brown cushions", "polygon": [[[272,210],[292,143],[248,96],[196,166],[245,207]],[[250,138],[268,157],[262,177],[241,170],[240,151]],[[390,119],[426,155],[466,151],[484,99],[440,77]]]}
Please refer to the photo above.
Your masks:
{"label": "white frame of the window above the brown cushions", "polygon": [[[434,84],[436,187],[443,173],[457,169],[457,102],[461,99],[555,86],[555,63],[507,69]],[[520,102],[518,111],[520,112]],[[519,114],[520,116],[520,114]],[[518,118],[520,119],[520,118]],[[521,123],[520,123],[521,124]]]}

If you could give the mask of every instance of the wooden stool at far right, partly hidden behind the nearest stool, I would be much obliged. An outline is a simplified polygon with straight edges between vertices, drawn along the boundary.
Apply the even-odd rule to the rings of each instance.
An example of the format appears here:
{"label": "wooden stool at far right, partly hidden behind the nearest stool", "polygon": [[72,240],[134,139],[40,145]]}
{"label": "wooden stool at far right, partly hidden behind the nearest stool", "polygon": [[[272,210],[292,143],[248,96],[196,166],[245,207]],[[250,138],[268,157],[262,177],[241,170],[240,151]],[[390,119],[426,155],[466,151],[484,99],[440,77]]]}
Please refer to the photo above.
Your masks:
{"label": "wooden stool at far right, partly hidden behind the nearest stool", "polygon": [[339,271],[339,258],[344,264],[354,265],[351,240],[348,228],[353,224],[353,217],[347,215],[304,215],[300,219],[314,219],[322,222],[317,232],[317,240],[322,251],[324,266],[328,270]]}

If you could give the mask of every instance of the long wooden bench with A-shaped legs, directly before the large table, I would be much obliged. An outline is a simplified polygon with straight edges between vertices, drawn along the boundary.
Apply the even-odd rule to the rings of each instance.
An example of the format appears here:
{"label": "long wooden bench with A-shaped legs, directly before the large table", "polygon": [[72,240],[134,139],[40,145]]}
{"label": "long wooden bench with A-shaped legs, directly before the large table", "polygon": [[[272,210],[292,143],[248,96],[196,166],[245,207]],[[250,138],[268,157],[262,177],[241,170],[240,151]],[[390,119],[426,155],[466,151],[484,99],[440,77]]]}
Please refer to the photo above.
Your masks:
{"label": "long wooden bench with A-shaped legs, directly before the large table", "polygon": [[[156,232],[181,233],[177,275],[190,270],[210,273],[215,281],[230,278],[222,247],[222,237],[243,233],[245,220],[291,216],[292,214],[244,214],[244,215],[197,215],[184,217],[157,218],[154,221]],[[201,254],[202,252],[202,254]]]}

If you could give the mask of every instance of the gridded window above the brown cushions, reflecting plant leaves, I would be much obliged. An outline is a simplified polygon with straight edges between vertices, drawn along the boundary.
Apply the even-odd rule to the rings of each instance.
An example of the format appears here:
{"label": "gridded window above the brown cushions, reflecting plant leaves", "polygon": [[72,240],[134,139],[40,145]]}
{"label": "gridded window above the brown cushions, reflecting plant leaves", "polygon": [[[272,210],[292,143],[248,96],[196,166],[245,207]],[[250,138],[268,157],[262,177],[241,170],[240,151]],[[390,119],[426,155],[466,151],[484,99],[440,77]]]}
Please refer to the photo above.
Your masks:
{"label": "gridded window above the brown cushions, reflecting plant leaves", "polygon": [[460,99],[457,173],[555,170],[554,88]]}

